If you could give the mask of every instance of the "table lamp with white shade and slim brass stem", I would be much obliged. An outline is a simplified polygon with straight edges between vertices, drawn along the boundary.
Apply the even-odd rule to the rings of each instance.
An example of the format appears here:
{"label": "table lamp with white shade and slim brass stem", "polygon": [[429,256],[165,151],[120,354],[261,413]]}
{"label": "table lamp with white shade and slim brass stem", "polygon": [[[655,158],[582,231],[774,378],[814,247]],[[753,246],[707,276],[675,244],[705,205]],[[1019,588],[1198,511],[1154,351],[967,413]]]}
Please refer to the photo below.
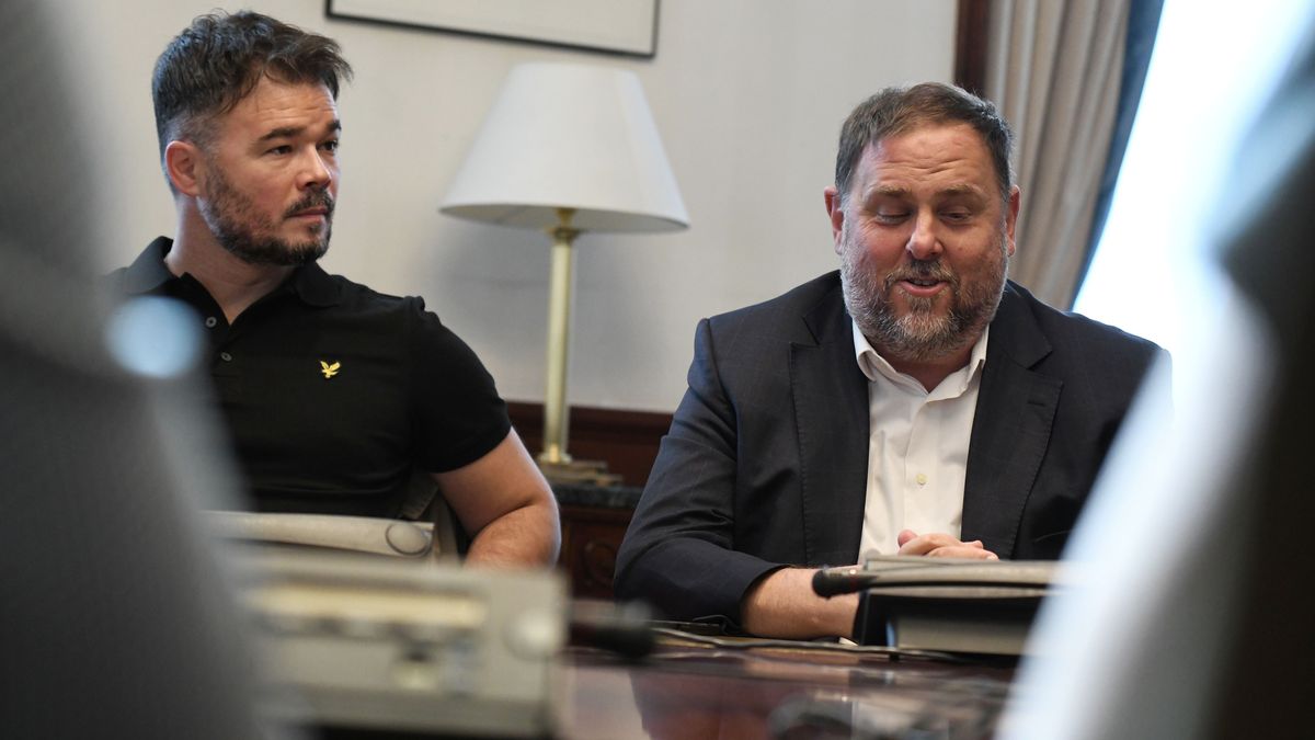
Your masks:
{"label": "table lamp with white shade and slim brass stem", "polygon": [[581,232],[689,225],[639,78],[573,63],[514,67],[439,211],[552,237],[547,383],[539,466],[552,481],[598,481],[567,453],[572,242]]}

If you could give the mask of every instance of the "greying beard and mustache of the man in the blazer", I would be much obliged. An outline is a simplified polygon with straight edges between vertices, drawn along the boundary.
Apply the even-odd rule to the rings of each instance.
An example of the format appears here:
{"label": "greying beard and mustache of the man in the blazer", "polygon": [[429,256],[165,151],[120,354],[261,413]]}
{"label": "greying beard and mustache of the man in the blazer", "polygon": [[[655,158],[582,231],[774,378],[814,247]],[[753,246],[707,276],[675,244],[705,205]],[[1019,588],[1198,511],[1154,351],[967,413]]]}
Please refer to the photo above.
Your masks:
{"label": "greying beard and mustache of the man in the blazer", "polygon": [[[972,345],[995,317],[1005,275],[1009,269],[1006,237],[1001,234],[999,259],[993,259],[980,280],[964,284],[944,262],[914,261],[901,265],[884,278],[864,266],[865,251],[849,244],[843,234],[840,286],[844,307],[863,336],[888,359],[927,362],[948,357]],[[890,292],[899,280],[943,280],[949,288],[949,312],[935,313],[939,296],[905,296],[909,313],[901,316],[892,304]]]}

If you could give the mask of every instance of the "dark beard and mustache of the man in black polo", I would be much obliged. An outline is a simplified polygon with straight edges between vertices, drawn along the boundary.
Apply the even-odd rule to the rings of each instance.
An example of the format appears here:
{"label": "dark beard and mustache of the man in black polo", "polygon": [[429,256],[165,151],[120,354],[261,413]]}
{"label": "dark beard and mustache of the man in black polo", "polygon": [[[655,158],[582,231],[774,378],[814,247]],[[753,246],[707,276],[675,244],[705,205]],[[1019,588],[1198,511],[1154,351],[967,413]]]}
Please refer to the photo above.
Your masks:
{"label": "dark beard and mustache of the man in black polo", "polygon": [[283,213],[287,219],[308,208],[326,209],[323,232],[318,238],[291,244],[274,236],[277,233],[277,224],[262,215],[251,199],[238,192],[222,170],[212,166],[210,172],[209,199],[200,201],[201,217],[220,246],[234,257],[247,265],[296,266],[309,265],[329,251],[334,209],[329,191],[313,190]]}

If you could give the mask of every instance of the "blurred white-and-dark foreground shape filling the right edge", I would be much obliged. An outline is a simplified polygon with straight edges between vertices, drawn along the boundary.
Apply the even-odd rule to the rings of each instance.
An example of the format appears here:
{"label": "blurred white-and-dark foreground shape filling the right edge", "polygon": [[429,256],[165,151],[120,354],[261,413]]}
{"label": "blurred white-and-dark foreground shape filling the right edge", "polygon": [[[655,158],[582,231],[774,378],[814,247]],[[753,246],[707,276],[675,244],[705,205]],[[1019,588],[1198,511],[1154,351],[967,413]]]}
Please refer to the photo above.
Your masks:
{"label": "blurred white-and-dark foreground shape filling the right edge", "polygon": [[[1099,564],[1043,610],[1002,737],[1310,735],[1315,558],[1315,13],[1235,153],[1216,294],[1177,410],[1139,399],[1065,557]],[[1210,154],[1210,153],[1203,153]],[[1115,545],[1115,546],[1111,546]],[[1303,729],[1304,728],[1304,729]]]}

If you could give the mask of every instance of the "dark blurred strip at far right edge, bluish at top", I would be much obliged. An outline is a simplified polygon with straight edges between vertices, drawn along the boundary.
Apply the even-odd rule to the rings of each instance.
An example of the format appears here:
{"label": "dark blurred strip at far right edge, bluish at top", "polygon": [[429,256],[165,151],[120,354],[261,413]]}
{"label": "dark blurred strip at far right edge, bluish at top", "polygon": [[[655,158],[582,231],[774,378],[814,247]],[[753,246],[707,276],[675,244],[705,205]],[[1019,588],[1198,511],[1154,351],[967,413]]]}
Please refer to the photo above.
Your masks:
{"label": "dark blurred strip at far right edge, bluish at top", "polygon": [[[1315,415],[1315,13],[1290,75],[1240,153],[1233,205],[1241,229],[1223,263],[1276,340],[1273,403],[1262,410],[1256,453],[1233,495],[1251,508],[1240,552],[1247,564],[1230,595],[1241,607],[1220,645],[1211,737],[1310,733],[1315,686],[1315,521],[1311,421]],[[1201,604],[1208,608],[1208,604]],[[1304,727],[1304,729],[1301,729]]]}

